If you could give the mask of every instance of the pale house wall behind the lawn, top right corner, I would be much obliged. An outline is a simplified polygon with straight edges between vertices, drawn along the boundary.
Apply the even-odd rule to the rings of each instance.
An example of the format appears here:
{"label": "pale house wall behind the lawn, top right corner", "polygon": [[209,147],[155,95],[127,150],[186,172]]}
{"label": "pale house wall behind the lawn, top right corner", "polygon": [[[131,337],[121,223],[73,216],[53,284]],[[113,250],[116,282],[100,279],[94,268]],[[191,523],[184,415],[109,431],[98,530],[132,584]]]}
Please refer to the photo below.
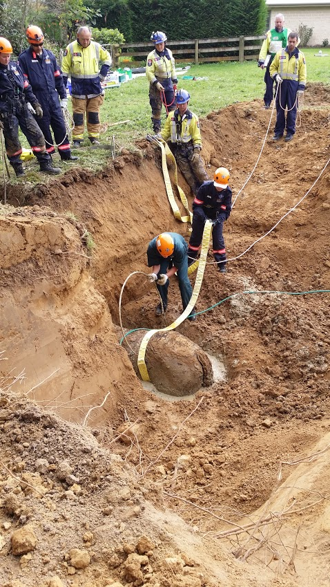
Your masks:
{"label": "pale house wall behind the lawn, top right corner", "polygon": [[297,30],[300,24],[313,27],[313,35],[309,39],[309,45],[322,46],[323,39],[328,39],[330,45],[330,6],[288,6],[284,8],[271,8],[269,27],[274,26],[275,15],[282,12],[284,25],[291,30]]}

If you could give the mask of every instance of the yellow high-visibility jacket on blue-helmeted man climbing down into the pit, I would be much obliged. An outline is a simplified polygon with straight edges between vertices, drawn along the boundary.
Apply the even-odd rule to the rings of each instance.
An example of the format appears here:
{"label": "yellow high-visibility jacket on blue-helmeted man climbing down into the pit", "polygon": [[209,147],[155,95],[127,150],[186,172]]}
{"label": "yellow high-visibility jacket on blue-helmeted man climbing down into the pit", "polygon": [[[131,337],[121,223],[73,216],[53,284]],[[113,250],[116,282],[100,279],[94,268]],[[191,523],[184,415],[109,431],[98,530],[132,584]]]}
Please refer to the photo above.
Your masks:
{"label": "yellow high-visibility jacket on blue-helmeted man climbing down into the pit", "polygon": [[171,142],[178,144],[192,141],[194,146],[202,147],[200,124],[197,116],[190,110],[186,110],[182,118],[178,110],[170,112],[160,134],[164,140],[171,138]]}

